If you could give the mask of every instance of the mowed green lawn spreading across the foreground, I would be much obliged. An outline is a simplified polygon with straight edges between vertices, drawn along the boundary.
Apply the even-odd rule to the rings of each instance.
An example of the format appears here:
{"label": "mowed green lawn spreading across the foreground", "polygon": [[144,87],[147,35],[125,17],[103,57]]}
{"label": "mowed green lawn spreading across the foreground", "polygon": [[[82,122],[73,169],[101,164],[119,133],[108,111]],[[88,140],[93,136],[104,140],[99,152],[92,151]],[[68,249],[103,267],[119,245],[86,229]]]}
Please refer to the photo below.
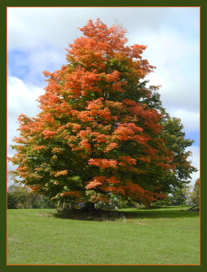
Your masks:
{"label": "mowed green lawn spreading across the foreground", "polygon": [[51,209],[8,210],[7,264],[199,265],[199,212],[187,208],[122,209],[114,219],[84,220]]}

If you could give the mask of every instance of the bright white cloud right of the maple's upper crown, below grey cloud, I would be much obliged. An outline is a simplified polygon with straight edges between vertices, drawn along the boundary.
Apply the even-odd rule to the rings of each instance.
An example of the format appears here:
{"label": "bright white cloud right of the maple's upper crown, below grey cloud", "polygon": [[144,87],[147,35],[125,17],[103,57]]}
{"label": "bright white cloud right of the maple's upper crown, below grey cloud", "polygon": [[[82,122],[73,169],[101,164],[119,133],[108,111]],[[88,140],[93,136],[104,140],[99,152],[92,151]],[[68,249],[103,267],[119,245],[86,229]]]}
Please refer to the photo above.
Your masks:
{"label": "bright white cloud right of the maple's upper crown, below grey cloud", "polygon": [[[182,107],[199,112],[199,39],[189,40],[180,34],[163,29],[142,36],[142,44],[148,45],[143,58],[157,67],[147,79],[152,85],[162,85],[159,92],[167,111],[169,107]],[[133,42],[136,40],[138,37],[135,36]]]}

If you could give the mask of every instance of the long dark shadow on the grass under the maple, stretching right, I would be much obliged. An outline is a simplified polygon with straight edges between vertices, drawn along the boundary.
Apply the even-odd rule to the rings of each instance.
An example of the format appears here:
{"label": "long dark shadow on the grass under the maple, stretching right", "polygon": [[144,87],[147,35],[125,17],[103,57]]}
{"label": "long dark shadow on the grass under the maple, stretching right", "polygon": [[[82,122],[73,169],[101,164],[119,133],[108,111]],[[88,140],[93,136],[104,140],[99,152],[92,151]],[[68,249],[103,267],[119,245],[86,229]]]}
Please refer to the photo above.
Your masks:
{"label": "long dark shadow on the grass under the maple, stretching right", "polygon": [[[179,210],[172,210],[175,207],[156,207],[150,209],[134,210],[94,210],[93,212],[85,212],[84,209],[61,209],[54,214],[57,218],[84,220],[84,221],[120,221],[139,218],[184,218],[184,217],[199,217],[199,212],[191,212],[189,207],[180,206]],[[183,210],[183,211],[181,211]]]}

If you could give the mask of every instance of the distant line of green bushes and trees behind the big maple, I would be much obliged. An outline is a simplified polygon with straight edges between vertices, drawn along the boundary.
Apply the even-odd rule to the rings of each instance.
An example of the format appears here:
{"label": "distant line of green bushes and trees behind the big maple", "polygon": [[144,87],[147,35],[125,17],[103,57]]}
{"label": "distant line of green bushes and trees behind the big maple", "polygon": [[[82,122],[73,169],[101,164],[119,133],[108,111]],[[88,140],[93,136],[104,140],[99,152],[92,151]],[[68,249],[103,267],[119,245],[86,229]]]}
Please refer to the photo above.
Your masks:
{"label": "distant line of green bushes and trees behind the big maple", "polygon": [[[50,209],[59,207],[75,206],[74,203],[65,200],[63,203],[51,201],[48,197],[42,196],[37,192],[30,192],[30,188],[22,186],[15,180],[15,177],[8,172],[8,181],[15,182],[7,188],[7,208],[8,209]],[[200,204],[200,178],[194,186],[186,185],[184,188],[176,188],[172,194],[169,194],[164,200],[156,201],[151,206],[179,206],[179,205],[199,205]],[[84,204],[83,204],[84,205]],[[77,204],[76,204],[77,206]],[[124,200],[121,197],[111,194],[110,203],[100,201],[96,208],[113,209],[119,208],[136,208],[140,204],[130,199]]]}

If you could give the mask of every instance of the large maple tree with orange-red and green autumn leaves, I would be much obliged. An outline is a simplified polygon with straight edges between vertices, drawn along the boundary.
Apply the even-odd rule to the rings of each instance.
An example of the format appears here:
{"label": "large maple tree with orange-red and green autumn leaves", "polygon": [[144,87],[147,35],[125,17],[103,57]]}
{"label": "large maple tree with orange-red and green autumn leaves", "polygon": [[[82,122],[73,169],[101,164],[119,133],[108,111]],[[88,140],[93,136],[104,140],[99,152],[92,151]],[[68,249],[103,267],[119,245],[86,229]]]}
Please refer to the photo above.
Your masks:
{"label": "large maple tree with orange-red and green autumn leaves", "polygon": [[79,29],[68,64],[43,72],[41,112],[19,116],[9,160],[23,184],[53,199],[90,204],[113,193],[148,206],[170,189],[163,177],[175,168],[159,137],[162,115],[145,103],[158,88],[146,87],[155,67],[142,59],[146,46],[126,46],[122,25],[97,19]]}

